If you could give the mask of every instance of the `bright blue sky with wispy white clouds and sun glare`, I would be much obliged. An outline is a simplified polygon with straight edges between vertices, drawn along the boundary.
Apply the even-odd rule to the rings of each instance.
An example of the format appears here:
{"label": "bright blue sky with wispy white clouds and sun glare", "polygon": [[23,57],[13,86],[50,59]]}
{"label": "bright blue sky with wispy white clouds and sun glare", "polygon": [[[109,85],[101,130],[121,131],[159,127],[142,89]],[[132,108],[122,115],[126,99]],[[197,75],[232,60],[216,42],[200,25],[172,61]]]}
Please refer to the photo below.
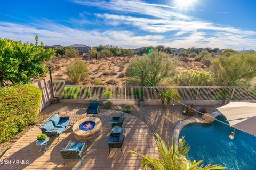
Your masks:
{"label": "bright blue sky with wispy white clouds and sun glare", "polygon": [[46,45],[256,49],[255,0],[2,1],[0,37]]}

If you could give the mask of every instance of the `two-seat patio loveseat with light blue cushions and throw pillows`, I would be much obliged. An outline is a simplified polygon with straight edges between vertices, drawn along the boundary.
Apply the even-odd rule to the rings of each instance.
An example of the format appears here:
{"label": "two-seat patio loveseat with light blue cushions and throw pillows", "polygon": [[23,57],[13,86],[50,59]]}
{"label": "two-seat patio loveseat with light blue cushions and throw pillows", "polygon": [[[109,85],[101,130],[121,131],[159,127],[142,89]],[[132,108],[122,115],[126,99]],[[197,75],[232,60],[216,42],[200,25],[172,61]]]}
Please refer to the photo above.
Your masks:
{"label": "two-seat patio loveseat with light blue cushions and throw pillows", "polygon": [[58,141],[60,141],[59,135],[65,131],[68,125],[70,125],[68,116],[60,117],[58,114],[52,114],[39,128],[43,134],[46,134],[48,137],[57,137]]}

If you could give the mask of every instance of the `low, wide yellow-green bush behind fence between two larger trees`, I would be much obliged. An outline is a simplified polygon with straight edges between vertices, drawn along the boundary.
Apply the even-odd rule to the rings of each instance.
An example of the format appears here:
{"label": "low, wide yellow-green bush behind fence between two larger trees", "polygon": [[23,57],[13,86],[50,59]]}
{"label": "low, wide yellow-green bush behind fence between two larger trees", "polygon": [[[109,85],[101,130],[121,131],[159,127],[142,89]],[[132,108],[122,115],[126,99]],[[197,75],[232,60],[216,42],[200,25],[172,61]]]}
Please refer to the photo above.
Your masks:
{"label": "low, wide yellow-green bush behind fence between two larger trees", "polygon": [[212,73],[209,71],[183,70],[175,75],[174,82],[179,86],[211,86]]}

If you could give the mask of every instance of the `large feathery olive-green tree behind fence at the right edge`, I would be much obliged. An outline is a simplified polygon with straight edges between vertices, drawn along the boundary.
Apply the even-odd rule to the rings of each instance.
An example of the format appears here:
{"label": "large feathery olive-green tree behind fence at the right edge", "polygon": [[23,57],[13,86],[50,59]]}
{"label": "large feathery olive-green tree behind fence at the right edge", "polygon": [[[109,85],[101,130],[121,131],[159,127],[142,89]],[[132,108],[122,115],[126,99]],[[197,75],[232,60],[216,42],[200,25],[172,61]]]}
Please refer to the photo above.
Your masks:
{"label": "large feathery olive-green tree behind fence at the right edge", "polygon": [[220,56],[212,61],[210,70],[217,86],[244,86],[256,76],[256,54]]}

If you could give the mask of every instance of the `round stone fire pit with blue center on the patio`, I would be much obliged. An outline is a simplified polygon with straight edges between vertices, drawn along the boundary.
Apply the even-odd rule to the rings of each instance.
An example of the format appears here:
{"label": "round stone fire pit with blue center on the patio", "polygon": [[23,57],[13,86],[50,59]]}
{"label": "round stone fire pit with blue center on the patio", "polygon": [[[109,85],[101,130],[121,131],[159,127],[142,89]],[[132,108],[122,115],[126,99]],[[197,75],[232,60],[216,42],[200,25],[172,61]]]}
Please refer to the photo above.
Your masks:
{"label": "round stone fire pit with blue center on the patio", "polygon": [[73,127],[74,137],[78,141],[90,141],[101,133],[101,120],[97,117],[86,117],[77,121]]}

